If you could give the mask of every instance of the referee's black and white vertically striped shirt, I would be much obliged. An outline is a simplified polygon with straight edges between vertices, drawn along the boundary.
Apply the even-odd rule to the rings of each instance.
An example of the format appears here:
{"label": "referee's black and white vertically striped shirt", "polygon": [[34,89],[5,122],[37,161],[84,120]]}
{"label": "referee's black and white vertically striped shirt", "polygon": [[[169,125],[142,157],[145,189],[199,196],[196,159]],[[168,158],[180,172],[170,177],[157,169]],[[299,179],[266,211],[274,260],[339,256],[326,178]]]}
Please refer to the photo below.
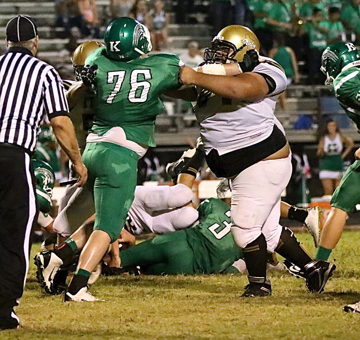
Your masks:
{"label": "referee's black and white vertically striped shirt", "polygon": [[63,82],[52,66],[25,48],[0,57],[0,143],[33,151],[44,116],[68,112]]}

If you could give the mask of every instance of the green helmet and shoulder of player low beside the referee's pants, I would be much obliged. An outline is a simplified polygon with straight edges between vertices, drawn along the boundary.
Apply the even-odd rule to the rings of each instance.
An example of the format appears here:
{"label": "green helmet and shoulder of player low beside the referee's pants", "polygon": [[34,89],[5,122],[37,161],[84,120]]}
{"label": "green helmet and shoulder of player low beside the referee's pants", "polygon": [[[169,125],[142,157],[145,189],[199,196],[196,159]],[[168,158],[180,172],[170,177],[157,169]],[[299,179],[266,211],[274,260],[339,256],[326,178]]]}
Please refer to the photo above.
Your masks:
{"label": "green helmet and shoulder of player low beside the referee's pants", "polygon": [[48,163],[31,160],[36,179],[36,196],[40,211],[47,213],[51,208],[51,196],[55,183],[55,174]]}

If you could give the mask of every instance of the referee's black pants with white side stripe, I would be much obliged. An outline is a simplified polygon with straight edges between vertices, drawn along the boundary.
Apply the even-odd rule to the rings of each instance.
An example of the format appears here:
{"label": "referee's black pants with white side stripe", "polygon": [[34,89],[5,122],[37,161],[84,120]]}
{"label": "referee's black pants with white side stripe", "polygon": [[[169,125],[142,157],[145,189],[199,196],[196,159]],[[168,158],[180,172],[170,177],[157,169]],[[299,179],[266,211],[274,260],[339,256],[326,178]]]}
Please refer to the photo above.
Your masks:
{"label": "referee's black pants with white side stripe", "polygon": [[30,155],[0,143],[0,317],[17,306],[23,294],[36,206]]}

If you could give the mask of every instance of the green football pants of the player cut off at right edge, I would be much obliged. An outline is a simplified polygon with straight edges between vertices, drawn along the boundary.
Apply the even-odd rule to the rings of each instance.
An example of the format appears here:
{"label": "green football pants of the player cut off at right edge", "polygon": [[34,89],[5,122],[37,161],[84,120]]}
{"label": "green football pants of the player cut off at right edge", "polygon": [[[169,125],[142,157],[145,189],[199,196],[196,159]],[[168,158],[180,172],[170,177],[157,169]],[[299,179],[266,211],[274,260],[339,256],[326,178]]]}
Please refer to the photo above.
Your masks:
{"label": "green football pants of the player cut off at right edge", "polygon": [[359,203],[360,161],[355,161],[345,171],[339,186],[336,188],[331,198],[331,206],[348,213]]}

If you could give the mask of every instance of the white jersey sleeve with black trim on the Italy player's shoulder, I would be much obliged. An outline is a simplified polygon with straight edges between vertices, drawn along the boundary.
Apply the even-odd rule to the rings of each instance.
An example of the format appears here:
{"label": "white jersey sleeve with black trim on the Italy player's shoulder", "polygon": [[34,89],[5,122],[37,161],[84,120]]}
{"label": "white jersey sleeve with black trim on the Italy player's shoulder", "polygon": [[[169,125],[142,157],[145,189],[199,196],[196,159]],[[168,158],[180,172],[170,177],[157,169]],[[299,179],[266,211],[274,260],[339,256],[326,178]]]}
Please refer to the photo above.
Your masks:
{"label": "white jersey sleeve with black trim on the Italy player's shoulder", "polygon": [[287,85],[283,68],[273,59],[267,57],[260,57],[260,59],[265,59],[265,61],[260,62],[252,72],[260,73],[264,76],[270,89],[266,97],[273,97],[282,93]]}

